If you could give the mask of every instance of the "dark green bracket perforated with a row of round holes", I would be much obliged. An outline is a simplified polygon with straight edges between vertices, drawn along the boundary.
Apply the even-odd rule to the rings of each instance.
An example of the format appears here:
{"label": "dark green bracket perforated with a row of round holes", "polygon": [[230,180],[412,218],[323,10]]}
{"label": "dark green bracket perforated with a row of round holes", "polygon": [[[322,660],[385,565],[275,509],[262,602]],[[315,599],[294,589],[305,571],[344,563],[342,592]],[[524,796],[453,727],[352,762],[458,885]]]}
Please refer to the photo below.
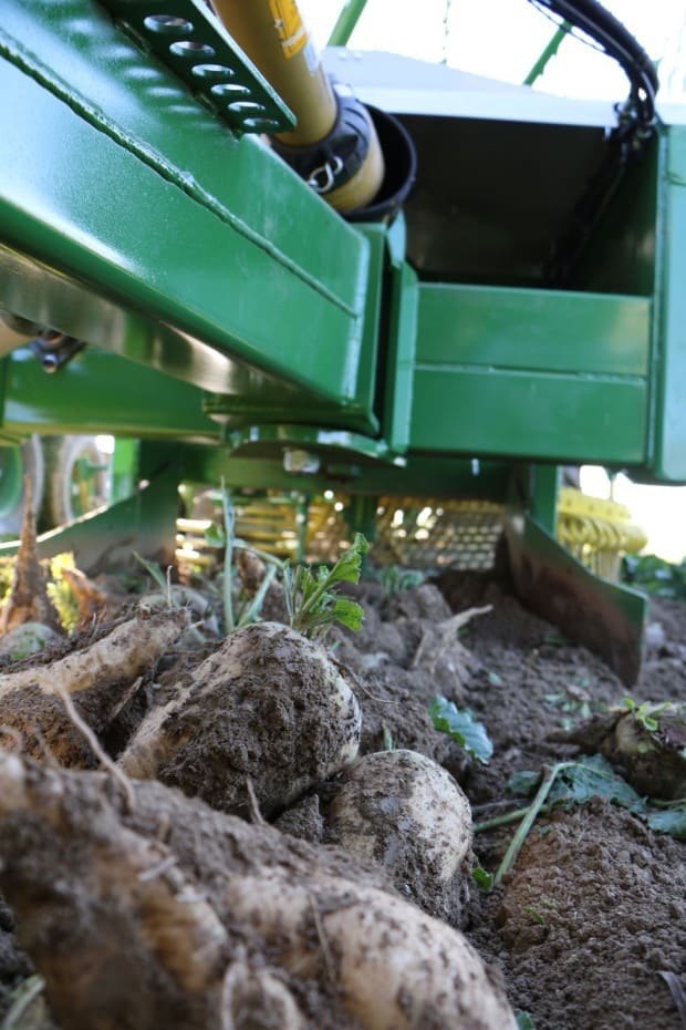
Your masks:
{"label": "dark green bracket perforated with a row of round holes", "polygon": [[295,116],[201,0],[100,0],[235,132],[285,132]]}

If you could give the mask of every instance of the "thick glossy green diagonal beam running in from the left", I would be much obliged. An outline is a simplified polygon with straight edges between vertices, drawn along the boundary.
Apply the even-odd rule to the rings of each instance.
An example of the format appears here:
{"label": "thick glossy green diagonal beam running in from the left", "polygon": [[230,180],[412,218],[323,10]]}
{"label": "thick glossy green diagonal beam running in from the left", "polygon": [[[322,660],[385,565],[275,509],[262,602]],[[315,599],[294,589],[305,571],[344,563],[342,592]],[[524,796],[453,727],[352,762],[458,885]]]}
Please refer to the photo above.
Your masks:
{"label": "thick glossy green diagonal beam running in from the left", "polygon": [[[368,267],[363,237],[261,144],[236,141],[172,82],[164,90],[184,110],[163,103],[156,132],[138,136],[131,109],[132,121],[148,128],[160,103],[145,75],[129,95],[132,76],[142,70],[137,51],[90,6],[39,10],[71,12],[64,31],[72,44],[79,24],[90,41],[85,50],[92,25],[108,42],[98,50],[96,73],[82,83],[93,87],[84,99],[71,83],[50,78],[23,45],[0,40],[0,50],[25,69],[0,61],[0,92],[12,97],[0,110],[0,137],[13,141],[3,151],[0,234],[33,259],[4,251],[0,305],[80,336],[83,307],[69,298],[90,286],[91,296],[103,293],[112,303],[106,318],[102,300],[96,303],[94,336],[86,340],[215,391],[266,403],[278,394],[293,408],[315,395],[342,411],[333,422],[368,429],[371,413],[356,394]],[[3,8],[3,20],[20,22],[18,11],[21,6],[10,2],[11,18]],[[48,48],[56,61],[58,30],[41,22],[33,31],[33,14],[23,42],[32,51]],[[74,49],[63,53],[70,79],[80,70],[85,75],[80,59],[72,68]],[[126,90],[117,92],[116,62],[123,60],[129,74]],[[159,84],[166,72],[150,70]],[[69,285],[74,289],[65,292]],[[128,331],[132,317],[138,331]],[[301,389],[289,392],[288,384]],[[362,387],[368,395],[368,384]]]}

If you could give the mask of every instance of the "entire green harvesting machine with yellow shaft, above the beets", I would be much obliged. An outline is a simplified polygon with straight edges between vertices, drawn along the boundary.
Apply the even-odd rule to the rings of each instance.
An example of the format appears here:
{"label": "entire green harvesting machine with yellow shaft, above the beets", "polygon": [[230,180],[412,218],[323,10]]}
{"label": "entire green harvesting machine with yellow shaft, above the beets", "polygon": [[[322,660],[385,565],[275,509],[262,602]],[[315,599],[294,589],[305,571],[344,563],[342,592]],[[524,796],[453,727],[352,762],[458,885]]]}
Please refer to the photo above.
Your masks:
{"label": "entire green harvesting machine with yellow shaft, above the beets", "polygon": [[686,126],[600,4],[543,6],[626,102],[320,58],[292,0],[3,0],[6,505],[27,441],[117,441],[108,506],[44,555],[169,554],[181,483],[280,498],[299,546],[311,512],[395,531],[398,560],[471,513],[635,677],[643,597],[555,527],[567,466],[686,481]]}

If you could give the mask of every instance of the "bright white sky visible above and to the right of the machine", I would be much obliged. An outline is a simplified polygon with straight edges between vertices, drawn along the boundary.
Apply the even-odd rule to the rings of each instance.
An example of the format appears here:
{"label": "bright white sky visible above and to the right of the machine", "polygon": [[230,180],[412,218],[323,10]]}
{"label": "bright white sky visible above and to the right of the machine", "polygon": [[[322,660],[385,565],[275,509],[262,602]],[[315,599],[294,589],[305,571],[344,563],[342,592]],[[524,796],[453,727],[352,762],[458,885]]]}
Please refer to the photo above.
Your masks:
{"label": "bright white sky visible above and to the right of the machine", "polygon": [[[318,45],[326,43],[343,0],[300,0]],[[659,99],[686,104],[686,3],[605,0],[605,6],[659,62]],[[350,47],[445,61],[466,72],[520,83],[555,31],[527,0],[367,0]],[[621,101],[627,81],[619,65],[576,40],[565,40],[537,87],[548,93]],[[686,399],[685,399],[686,403]],[[600,468],[585,468],[583,488],[610,493]],[[640,487],[625,476],[614,497],[649,534],[647,550],[668,560],[686,555],[686,487]]]}

